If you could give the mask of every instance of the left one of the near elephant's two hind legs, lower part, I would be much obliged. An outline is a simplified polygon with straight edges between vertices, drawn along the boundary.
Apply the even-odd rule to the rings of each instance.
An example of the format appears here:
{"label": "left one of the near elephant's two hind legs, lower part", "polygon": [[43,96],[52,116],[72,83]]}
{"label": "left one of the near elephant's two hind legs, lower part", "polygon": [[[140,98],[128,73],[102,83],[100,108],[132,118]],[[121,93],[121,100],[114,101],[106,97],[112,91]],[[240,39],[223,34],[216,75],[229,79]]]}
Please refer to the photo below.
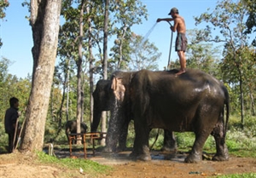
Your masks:
{"label": "left one of the near elephant's two hind legs, lower part", "polygon": [[184,160],[185,163],[193,164],[201,162],[202,149],[209,135],[208,132],[195,133],[195,142],[189,156]]}

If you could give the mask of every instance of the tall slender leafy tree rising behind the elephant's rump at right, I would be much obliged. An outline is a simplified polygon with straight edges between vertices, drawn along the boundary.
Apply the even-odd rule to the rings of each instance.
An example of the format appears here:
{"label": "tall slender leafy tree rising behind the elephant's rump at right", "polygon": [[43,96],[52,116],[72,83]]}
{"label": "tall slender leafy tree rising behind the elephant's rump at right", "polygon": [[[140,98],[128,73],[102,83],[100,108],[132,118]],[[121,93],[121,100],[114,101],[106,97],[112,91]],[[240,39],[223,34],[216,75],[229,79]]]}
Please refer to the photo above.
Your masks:
{"label": "tall slender leafy tree rising behind the elephant's rump at right", "polygon": [[[212,26],[207,26],[205,30],[199,31],[197,39],[207,42],[222,42],[224,43],[224,56],[229,56],[231,60],[225,60],[224,63],[232,61],[229,66],[232,66],[236,71],[236,76],[239,78],[240,90],[240,112],[241,123],[244,123],[244,93],[243,93],[243,77],[245,74],[244,68],[241,67],[244,63],[242,55],[238,53],[241,49],[247,47],[248,36],[246,35],[245,18],[247,14],[247,5],[243,1],[234,3],[232,0],[222,0],[212,13],[203,13],[199,17],[195,17],[196,25],[202,22],[210,23]],[[212,28],[213,27],[213,28]],[[212,37],[212,31],[218,30],[221,37]],[[224,69],[228,70],[228,69]],[[230,76],[230,75],[229,75]],[[227,76],[227,77],[229,77]]]}

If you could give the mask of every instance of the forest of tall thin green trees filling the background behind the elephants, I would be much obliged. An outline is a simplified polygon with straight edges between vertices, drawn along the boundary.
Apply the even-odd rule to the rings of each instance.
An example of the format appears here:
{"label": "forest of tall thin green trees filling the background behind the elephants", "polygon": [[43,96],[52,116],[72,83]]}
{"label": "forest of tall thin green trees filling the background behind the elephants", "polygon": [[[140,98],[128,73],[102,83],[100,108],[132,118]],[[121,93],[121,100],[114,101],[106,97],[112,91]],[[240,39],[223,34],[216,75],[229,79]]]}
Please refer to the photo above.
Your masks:
{"label": "forest of tall thin green trees filling the background behind the elephants", "polygon": [[[256,135],[255,4],[255,0],[223,0],[213,10],[206,9],[195,17],[195,26],[204,24],[205,27],[188,30],[187,51],[187,67],[210,73],[229,89],[232,118],[250,139]],[[29,3],[23,5],[30,8]],[[9,3],[0,1],[0,6],[4,18]],[[140,25],[147,18],[147,7],[141,1],[62,1],[59,60],[51,84],[47,117],[38,118],[46,119],[44,142],[51,138],[66,140],[60,133],[67,120],[76,119],[90,126],[91,94],[99,78],[107,79],[116,70],[161,70],[158,67],[161,54],[148,40],[148,34],[142,37],[132,31],[132,26]],[[106,43],[110,37],[113,43]],[[0,119],[3,121],[9,98],[15,96],[20,100],[22,123],[27,117],[32,76],[12,75],[11,64],[4,57],[0,61]],[[178,60],[172,59],[171,66],[179,68]],[[105,131],[107,125],[108,117],[103,117],[101,130]],[[0,122],[0,134],[0,141],[7,141],[3,122]]]}

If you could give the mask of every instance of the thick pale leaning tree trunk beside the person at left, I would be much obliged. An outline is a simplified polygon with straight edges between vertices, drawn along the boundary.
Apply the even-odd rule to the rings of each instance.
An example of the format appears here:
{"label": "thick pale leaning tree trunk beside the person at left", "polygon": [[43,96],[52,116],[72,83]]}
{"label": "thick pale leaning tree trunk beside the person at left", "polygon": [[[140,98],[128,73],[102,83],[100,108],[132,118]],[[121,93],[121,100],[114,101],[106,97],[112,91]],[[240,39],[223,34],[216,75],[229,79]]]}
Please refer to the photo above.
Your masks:
{"label": "thick pale leaning tree trunk beside the person at left", "polygon": [[41,151],[49,96],[55,70],[61,0],[31,0],[31,26],[34,46],[32,90],[26,110],[24,139],[20,151]]}

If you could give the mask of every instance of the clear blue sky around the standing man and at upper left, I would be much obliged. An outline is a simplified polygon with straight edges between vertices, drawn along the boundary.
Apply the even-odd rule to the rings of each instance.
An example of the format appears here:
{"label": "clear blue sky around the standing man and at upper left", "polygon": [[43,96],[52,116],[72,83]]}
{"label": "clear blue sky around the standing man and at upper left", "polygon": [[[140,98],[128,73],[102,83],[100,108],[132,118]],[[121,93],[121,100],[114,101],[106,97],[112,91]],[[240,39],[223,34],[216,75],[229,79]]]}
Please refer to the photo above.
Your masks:
{"label": "clear blue sky around the standing man and at upper left", "polygon": [[[9,8],[6,10],[6,17],[0,23],[0,37],[2,38],[3,47],[0,49],[1,56],[13,61],[9,66],[9,73],[16,75],[18,78],[26,78],[27,74],[32,74],[32,29],[29,26],[26,16],[29,16],[26,7],[22,7],[23,0],[9,0]],[[134,32],[141,36],[145,36],[154,26],[158,18],[169,17],[168,13],[172,7],[179,10],[179,14],[186,21],[187,29],[194,29],[194,16],[215,8],[217,0],[142,0],[148,8],[148,20],[143,25],[132,28]],[[173,34],[174,47],[176,33]],[[162,53],[159,62],[159,69],[167,65],[171,30],[169,24],[162,21],[154,26],[153,31],[148,36],[149,42],[154,45]],[[172,60],[177,59],[176,52],[172,49]]]}

